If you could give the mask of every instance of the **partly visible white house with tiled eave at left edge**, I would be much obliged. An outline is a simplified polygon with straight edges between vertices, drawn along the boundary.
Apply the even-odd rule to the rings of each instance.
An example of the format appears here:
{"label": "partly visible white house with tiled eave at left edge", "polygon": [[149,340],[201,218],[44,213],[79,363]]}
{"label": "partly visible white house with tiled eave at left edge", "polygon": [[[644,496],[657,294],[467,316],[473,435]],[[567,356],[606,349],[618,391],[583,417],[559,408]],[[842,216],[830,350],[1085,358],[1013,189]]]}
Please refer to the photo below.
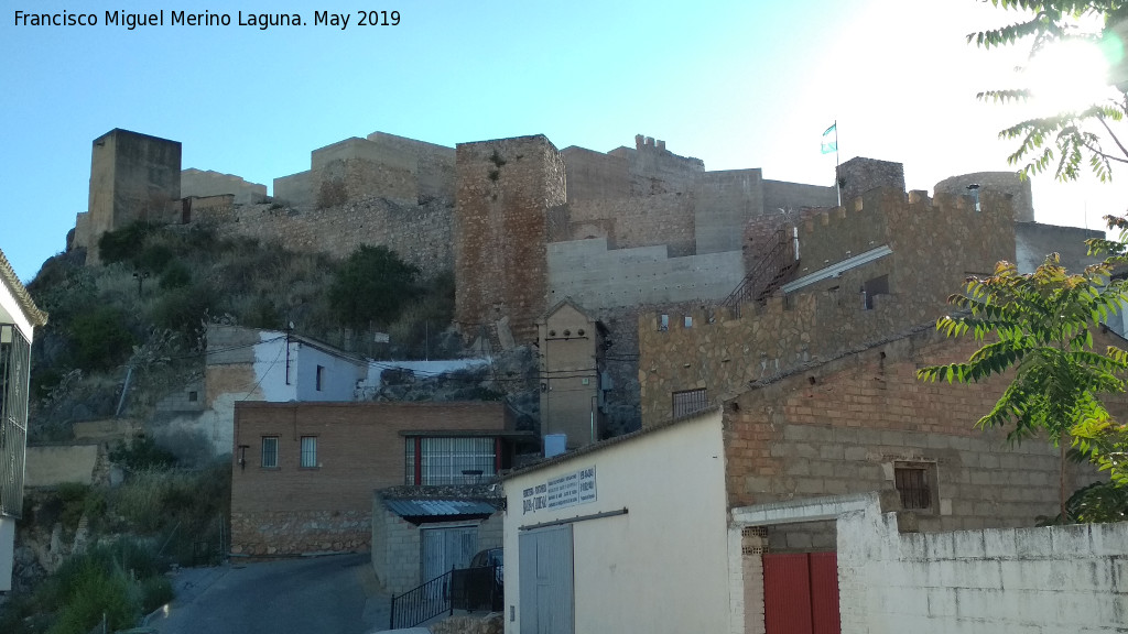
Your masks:
{"label": "partly visible white house with tiled eave at left edge", "polygon": [[11,590],[16,521],[24,508],[32,334],[44,326],[27,289],[0,252],[0,591]]}

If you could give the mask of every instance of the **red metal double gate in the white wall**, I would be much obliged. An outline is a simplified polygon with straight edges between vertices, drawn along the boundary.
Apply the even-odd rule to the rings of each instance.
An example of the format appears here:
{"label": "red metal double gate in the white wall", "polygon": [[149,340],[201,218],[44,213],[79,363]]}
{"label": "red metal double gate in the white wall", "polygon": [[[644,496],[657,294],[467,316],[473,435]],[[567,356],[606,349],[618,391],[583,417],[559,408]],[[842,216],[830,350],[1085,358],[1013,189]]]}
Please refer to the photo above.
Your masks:
{"label": "red metal double gate in the white wall", "polygon": [[764,555],[764,628],[767,634],[841,632],[835,553]]}

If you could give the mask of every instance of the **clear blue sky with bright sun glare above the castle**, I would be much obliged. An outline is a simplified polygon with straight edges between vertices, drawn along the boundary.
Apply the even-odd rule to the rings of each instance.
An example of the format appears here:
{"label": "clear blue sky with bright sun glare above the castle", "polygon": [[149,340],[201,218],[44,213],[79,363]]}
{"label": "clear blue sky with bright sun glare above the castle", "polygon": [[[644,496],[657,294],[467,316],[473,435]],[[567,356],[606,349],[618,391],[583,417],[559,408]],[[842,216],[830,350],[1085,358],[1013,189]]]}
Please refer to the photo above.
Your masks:
{"label": "clear blue sky with bright sun glare above the castle", "polygon": [[[14,26],[15,11],[90,11],[94,27]],[[105,11],[165,11],[165,26],[105,26]],[[176,10],[232,26],[170,26]],[[259,30],[237,11],[298,12]],[[400,24],[358,26],[361,9]],[[344,30],[315,10],[349,12]],[[453,146],[544,133],[607,151],[635,134],[706,169],[830,185],[819,152],[838,122],[841,160],[905,164],[909,188],[1008,169],[996,132],[1017,118],[976,100],[1007,81],[1017,52],[964,35],[1015,15],[975,0],[517,2],[5,0],[0,10],[0,249],[29,281],[87,206],[90,142],[124,127],[183,143],[183,166],[270,187],[309,152],[384,131]],[[1034,180],[1042,222],[1102,227],[1128,203],[1117,185]]]}

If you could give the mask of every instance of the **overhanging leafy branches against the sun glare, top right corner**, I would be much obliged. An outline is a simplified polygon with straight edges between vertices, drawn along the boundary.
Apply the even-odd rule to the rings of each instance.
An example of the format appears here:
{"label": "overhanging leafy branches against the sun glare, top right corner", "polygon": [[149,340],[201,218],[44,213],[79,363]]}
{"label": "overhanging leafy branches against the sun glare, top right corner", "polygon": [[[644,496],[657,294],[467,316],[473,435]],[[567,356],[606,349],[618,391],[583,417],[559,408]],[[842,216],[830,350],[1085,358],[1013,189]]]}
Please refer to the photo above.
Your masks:
{"label": "overhanging leafy branches against the sun glare, top right corner", "polygon": [[[968,35],[984,49],[1026,43],[1033,58],[1047,47],[1070,41],[1101,45],[1112,65],[1109,97],[1099,103],[1046,116],[1029,118],[999,132],[1006,140],[1019,141],[1019,148],[1007,158],[1021,166],[1024,175],[1055,170],[1058,179],[1072,180],[1081,175],[1083,164],[1101,180],[1111,177],[1112,164],[1128,164],[1128,148],[1118,130],[1128,114],[1128,62],[1125,39],[1128,35],[1128,1],[1126,0],[992,0],[996,7],[1026,14],[1026,19],[999,28]],[[1099,29],[1085,28],[1086,20],[1099,23]],[[986,90],[980,99],[993,102],[1026,100],[1029,88]],[[1087,159],[1086,159],[1087,157]]]}

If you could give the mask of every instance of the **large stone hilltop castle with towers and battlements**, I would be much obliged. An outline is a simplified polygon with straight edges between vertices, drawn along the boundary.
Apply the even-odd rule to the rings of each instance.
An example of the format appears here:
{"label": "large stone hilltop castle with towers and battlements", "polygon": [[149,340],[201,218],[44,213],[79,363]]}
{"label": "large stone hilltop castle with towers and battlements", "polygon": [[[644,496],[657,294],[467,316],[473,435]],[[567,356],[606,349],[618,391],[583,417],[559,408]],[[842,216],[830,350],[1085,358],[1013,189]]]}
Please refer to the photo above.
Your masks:
{"label": "large stone hilltop castle with towers and battlements", "polygon": [[[979,188],[969,190],[971,184]],[[869,284],[867,306],[876,298],[880,310],[902,317],[897,324],[909,315],[934,318],[966,274],[988,273],[1001,258],[1037,265],[1047,248],[1063,248],[1059,243],[1076,243],[1074,255],[1081,257],[1085,234],[1034,223],[1030,184],[1014,174],[955,176],[936,185],[932,201],[905,192],[900,164],[856,158],[839,166],[837,184],[786,183],[765,179],[759,168],[708,171],[702,160],[642,135],[633,148],[598,152],[557,150],[544,135],[447,148],[376,132],[314,150],[309,170],[273,185],[270,200],[263,185],[182,170],[178,142],[114,130],[94,141],[90,206],[78,215],[72,245],[86,247],[88,263],[97,263],[92,247],[103,232],[142,219],[210,223],[337,257],[362,244],[385,245],[425,275],[453,271],[457,325],[467,336],[486,333],[501,347],[544,345],[538,340],[549,331],[538,335],[538,324],[567,300],[599,324],[602,342],[588,367],[570,370],[571,378],[583,379],[575,398],[596,398],[613,432],[660,417],[671,386],[685,390],[704,380],[671,375],[662,379],[670,385],[654,384],[642,367],[654,359],[651,343],[661,345],[650,341],[652,333],[676,338],[722,316],[747,320],[722,305],[739,311],[742,301],[761,300],[791,279],[881,245],[892,245],[896,255],[874,256],[879,267],[897,267],[883,279],[874,274],[849,284],[863,294]],[[768,262],[781,254],[786,262]],[[767,279],[756,278],[765,271]],[[808,290],[831,292],[829,285]],[[855,289],[838,287],[837,299],[785,303],[813,302],[810,310],[832,319],[827,307],[856,303],[843,299]],[[889,303],[882,294],[913,310],[882,308]],[[774,334],[756,336],[772,344],[772,353],[748,352],[752,362],[744,367],[760,368],[763,356],[763,375],[768,364],[790,367],[895,325],[861,327],[845,314],[838,318],[853,334],[839,332],[821,352],[811,342],[776,351],[786,336],[764,331]],[[803,323],[799,314],[774,319]],[[721,363],[724,353],[717,355]],[[552,377],[547,361],[541,366],[543,376]],[[732,380],[746,380],[750,371]],[[555,389],[552,384],[546,378],[541,389]]]}

